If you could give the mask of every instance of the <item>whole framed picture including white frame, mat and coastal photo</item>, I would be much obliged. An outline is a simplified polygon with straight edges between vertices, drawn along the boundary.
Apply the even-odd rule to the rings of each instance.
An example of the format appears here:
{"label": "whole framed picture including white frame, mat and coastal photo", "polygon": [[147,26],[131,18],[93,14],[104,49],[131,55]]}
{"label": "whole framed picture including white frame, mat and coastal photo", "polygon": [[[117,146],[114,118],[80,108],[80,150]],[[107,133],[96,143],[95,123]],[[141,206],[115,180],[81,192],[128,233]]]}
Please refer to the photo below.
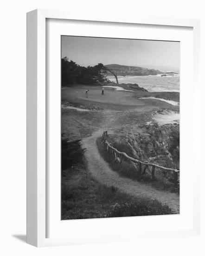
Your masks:
{"label": "whole framed picture including white frame, mat and coastal photo", "polygon": [[199,20],[27,13],[27,243],[199,234],[198,70]]}

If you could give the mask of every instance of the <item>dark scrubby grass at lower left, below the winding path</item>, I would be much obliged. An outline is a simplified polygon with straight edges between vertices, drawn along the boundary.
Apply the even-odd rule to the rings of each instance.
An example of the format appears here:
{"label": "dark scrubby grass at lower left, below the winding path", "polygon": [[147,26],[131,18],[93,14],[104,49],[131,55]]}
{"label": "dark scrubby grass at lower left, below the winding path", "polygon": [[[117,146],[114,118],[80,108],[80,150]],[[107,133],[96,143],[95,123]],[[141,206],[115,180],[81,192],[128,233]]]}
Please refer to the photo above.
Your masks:
{"label": "dark scrubby grass at lower left, below the winding path", "polygon": [[[67,142],[66,149],[70,143]],[[66,164],[65,155],[62,164],[64,167],[61,175],[62,220],[174,214],[172,209],[157,200],[144,196],[134,197],[122,193],[115,186],[98,182],[87,167],[84,150],[79,141],[72,141],[72,147],[75,148],[75,154],[67,151],[68,159],[72,160],[72,164]],[[77,151],[81,158],[78,157],[78,162],[75,161]]]}

